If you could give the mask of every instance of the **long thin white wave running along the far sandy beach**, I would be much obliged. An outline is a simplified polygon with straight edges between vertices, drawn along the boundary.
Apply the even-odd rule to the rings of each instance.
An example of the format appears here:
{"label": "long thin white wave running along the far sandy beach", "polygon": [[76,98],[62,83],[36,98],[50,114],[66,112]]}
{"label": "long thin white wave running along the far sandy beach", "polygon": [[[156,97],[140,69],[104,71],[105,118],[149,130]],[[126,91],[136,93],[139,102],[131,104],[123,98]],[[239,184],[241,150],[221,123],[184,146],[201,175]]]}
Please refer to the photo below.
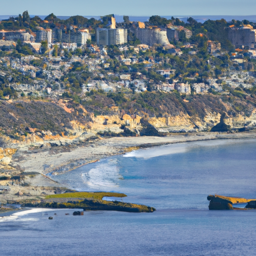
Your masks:
{"label": "long thin white wave running along the far sandy beach", "polygon": [[141,157],[141,158],[151,158],[160,155],[167,154],[176,154],[184,153],[192,148],[196,147],[205,147],[205,146],[219,146],[226,143],[238,143],[244,140],[203,140],[203,141],[191,141],[191,142],[182,142],[177,144],[168,144],[162,146],[154,146],[150,148],[138,149],[131,152],[128,152],[123,155],[123,157]]}

